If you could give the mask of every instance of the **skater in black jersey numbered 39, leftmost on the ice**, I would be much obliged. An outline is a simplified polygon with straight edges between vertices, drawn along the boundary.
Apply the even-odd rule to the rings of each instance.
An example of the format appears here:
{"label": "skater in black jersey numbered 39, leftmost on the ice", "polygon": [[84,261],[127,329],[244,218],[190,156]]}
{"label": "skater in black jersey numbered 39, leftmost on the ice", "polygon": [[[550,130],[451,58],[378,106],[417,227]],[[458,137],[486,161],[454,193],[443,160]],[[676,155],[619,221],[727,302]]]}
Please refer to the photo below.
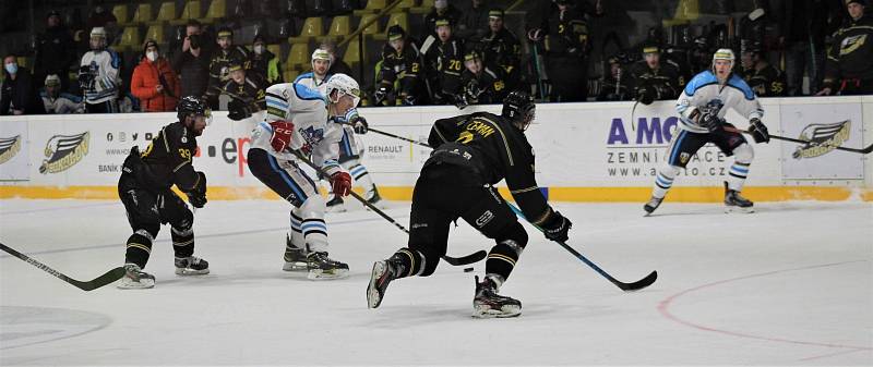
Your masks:
{"label": "skater in black jersey numbered 39, leftmost on the ice", "polygon": [[179,121],[164,126],[140,154],[136,147],[122,166],[118,196],[124,204],[133,234],[128,238],[120,289],[155,286],[155,277],[143,271],[152,253],[160,224],[169,223],[176,273],[196,276],[210,272],[206,260],[194,257],[193,213],[170,187],[176,185],[194,208],[206,204],[206,175],[194,171],[192,157],[196,137],[208,124],[210,110],[200,99],[189,96],[179,101]]}

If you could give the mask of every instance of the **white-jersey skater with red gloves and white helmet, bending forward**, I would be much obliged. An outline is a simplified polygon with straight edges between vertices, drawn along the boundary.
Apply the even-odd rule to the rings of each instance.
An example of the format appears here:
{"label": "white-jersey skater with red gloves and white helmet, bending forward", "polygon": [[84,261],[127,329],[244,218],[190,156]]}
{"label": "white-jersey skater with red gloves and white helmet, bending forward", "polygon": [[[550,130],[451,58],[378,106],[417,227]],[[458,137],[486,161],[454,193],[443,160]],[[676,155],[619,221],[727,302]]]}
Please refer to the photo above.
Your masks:
{"label": "white-jersey skater with red gloves and white helmet, bending forward", "polygon": [[346,196],[351,176],[337,161],[339,129],[333,119],[354,110],[360,100],[358,83],[336,74],[325,95],[299,83],[283,83],[266,89],[266,119],[252,133],[249,170],[261,182],[294,205],[290,212],[283,270],[308,270],[309,279],[337,279],[348,265],[327,257],[325,203],[315,182],[303,172],[296,155],[308,157],[330,178],[333,192]]}

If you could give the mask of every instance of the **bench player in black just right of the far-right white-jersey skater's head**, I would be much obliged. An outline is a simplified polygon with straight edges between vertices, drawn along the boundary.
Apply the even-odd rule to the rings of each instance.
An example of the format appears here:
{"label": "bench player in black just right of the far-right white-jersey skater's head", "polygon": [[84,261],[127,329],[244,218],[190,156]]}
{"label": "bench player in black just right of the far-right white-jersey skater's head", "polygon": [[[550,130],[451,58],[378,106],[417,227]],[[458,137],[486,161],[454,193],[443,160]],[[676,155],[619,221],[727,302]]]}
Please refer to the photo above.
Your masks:
{"label": "bench player in black just right of the far-right white-jersey skater's head", "polygon": [[767,62],[758,42],[749,42],[749,46],[740,53],[740,64],[745,83],[752,87],[758,97],[780,97],[785,96],[786,81],[785,73]]}

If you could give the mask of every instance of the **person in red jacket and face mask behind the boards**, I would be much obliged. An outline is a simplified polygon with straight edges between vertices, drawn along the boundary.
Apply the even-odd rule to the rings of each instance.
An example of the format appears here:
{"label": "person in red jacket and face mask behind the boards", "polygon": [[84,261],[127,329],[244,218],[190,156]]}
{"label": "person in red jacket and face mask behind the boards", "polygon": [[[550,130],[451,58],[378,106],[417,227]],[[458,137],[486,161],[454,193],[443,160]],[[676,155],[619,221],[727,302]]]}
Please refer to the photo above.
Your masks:
{"label": "person in red jacket and face mask behind the boards", "polygon": [[159,53],[154,40],[145,41],[143,54],[140,64],[133,70],[131,93],[140,99],[143,112],[176,111],[176,102],[181,94],[176,72]]}

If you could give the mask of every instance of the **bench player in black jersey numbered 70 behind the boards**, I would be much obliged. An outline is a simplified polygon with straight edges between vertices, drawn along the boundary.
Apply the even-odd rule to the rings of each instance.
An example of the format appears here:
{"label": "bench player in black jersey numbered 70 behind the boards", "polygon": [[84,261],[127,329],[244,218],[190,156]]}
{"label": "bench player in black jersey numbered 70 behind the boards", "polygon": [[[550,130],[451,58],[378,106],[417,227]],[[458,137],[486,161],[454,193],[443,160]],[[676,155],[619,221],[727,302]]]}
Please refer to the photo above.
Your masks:
{"label": "bench player in black jersey numbered 70 behind the boards", "polygon": [[435,45],[422,47],[431,100],[436,105],[462,105],[461,72],[464,71],[464,40],[454,37],[450,19],[438,19]]}

